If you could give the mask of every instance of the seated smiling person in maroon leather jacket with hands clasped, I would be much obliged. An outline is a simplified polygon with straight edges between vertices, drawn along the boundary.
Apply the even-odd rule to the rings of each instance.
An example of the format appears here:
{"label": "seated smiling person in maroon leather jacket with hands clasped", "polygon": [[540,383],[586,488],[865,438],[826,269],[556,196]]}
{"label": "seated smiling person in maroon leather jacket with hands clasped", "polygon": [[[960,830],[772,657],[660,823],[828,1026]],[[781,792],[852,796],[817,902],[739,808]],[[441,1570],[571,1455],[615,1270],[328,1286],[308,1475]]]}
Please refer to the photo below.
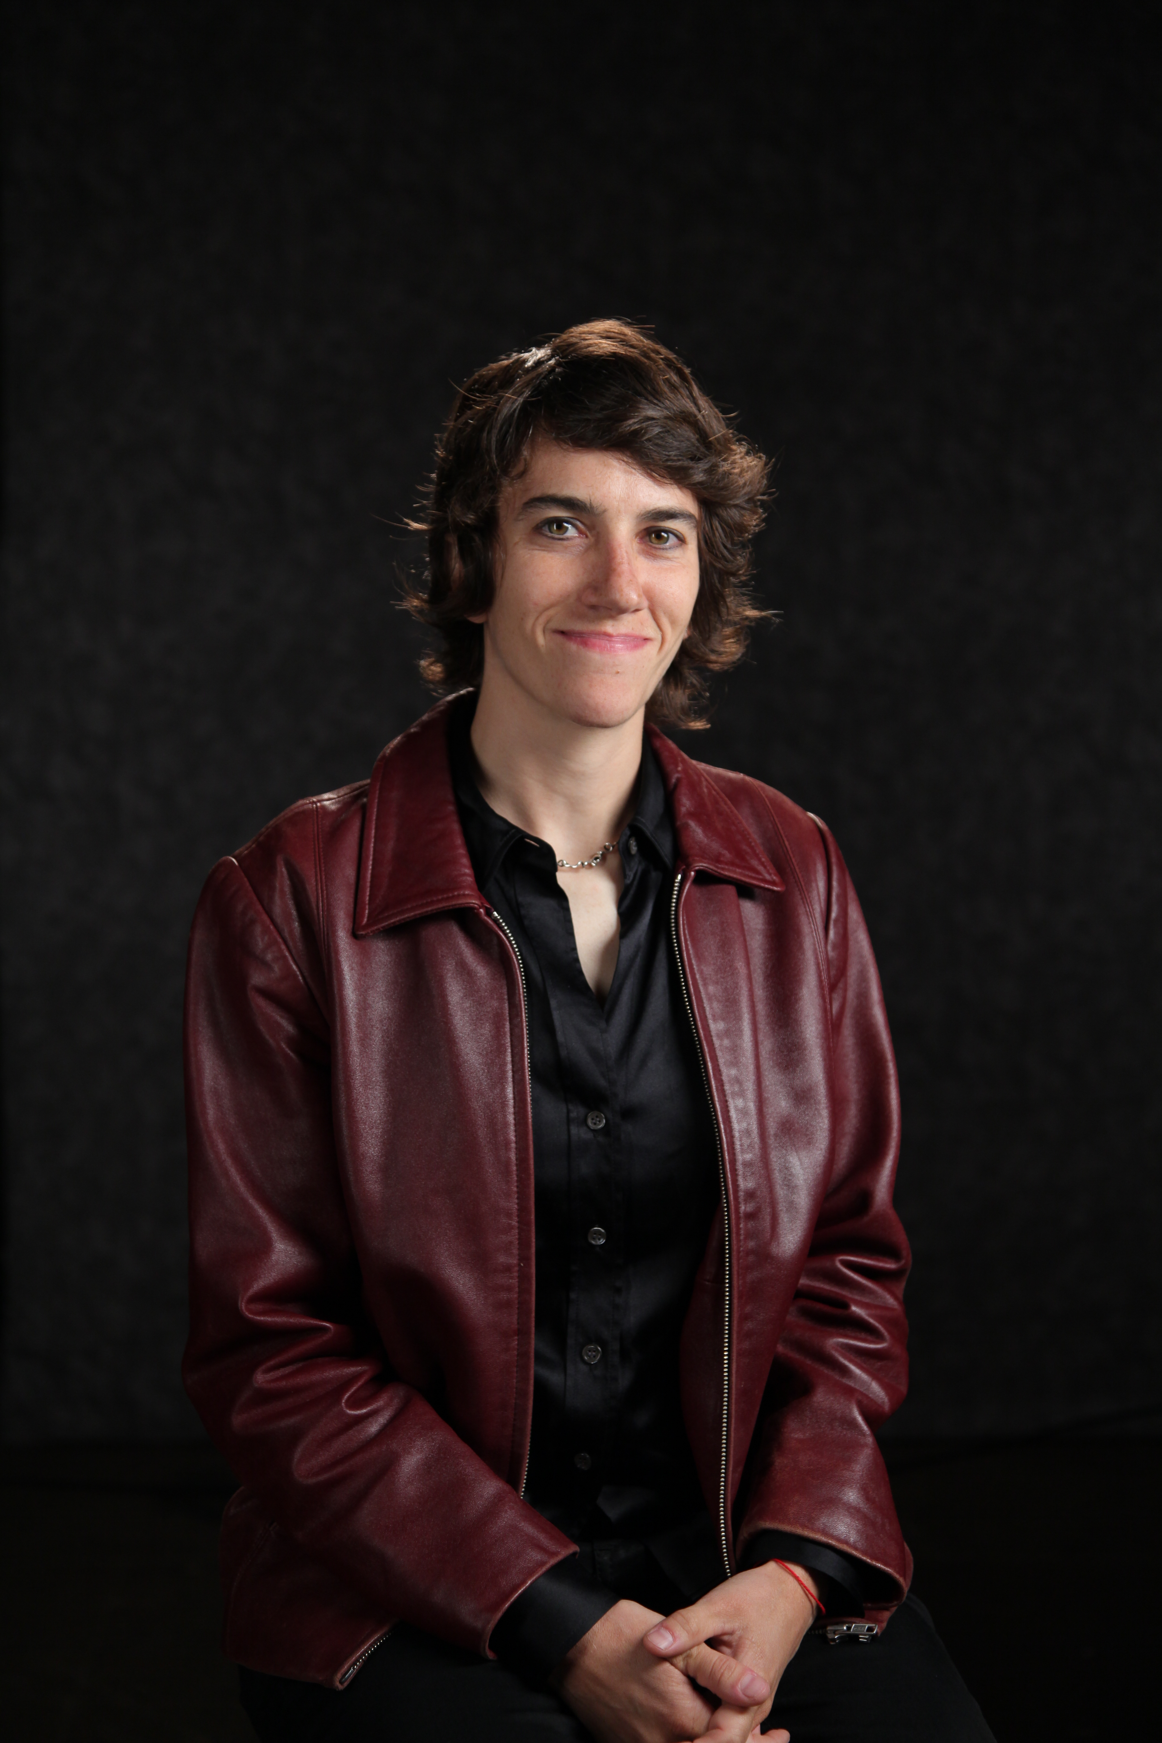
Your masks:
{"label": "seated smiling person in maroon leather jacket with hands clasped", "polygon": [[190,943],[185,1380],[263,1740],[986,1740],[908,1595],[897,1084],[828,828],[688,758],[767,462],[650,333],[479,370],[441,702]]}

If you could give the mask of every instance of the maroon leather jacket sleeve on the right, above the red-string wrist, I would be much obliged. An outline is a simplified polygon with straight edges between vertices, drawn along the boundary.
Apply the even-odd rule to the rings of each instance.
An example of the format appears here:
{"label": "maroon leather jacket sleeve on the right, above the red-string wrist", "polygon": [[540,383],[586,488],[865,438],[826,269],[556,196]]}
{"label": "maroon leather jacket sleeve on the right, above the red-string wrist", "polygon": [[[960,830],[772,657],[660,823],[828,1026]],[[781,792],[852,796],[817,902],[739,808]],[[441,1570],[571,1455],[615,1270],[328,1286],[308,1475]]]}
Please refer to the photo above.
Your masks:
{"label": "maroon leather jacket sleeve on the right, above the red-string wrist", "polygon": [[[911,1577],[878,1428],[908,1389],[909,1250],[892,1204],[899,1091],[871,941],[826,824],[817,891],[831,1004],[831,1171],[753,1438],[739,1553],[796,1532],[864,1563],[873,1607]],[[810,906],[812,885],[805,878]]]}

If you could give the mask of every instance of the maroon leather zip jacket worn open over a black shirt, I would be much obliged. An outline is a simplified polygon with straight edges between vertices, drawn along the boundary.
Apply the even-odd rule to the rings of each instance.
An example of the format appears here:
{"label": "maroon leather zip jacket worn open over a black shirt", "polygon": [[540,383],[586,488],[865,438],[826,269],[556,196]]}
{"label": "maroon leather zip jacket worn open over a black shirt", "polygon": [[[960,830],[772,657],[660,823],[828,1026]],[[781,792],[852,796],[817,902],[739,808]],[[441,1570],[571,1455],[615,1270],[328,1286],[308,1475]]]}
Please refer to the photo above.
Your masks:
{"label": "maroon leather zip jacket worn open over a black shirt", "polygon": [[[871,946],[824,824],[652,736],[672,938],[723,1201],[681,1335],[723,1558],[763,1527],[902,1597],[873,1431],[906,1384],[899,1109]],[[479,894],[446,704],[369,783],[209,877],[186,994],[185,1380],[246,1485],[225,1649],[341,1687],[394,1619],[488,1651],[573,1544],[521,1499],[533,1140],[517,957]]]}

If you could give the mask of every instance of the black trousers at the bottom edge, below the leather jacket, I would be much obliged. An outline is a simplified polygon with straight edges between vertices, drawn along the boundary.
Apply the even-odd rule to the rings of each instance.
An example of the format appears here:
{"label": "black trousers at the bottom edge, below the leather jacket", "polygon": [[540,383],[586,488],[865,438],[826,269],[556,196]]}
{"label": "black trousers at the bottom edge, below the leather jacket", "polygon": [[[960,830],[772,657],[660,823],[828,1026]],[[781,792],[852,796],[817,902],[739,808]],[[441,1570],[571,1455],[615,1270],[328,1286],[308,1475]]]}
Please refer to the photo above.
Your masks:
{"label": "black trousers at the bottom edge, below the leather jacket", "polygon": [[[343,1692],[242,1672],[261,1743],[592,1743],[551,1689],[497,1661],[397,1628]],[[993,1743],[918,1598],[864,1645],[807,1635],[765,1729],[793,1743]]]}

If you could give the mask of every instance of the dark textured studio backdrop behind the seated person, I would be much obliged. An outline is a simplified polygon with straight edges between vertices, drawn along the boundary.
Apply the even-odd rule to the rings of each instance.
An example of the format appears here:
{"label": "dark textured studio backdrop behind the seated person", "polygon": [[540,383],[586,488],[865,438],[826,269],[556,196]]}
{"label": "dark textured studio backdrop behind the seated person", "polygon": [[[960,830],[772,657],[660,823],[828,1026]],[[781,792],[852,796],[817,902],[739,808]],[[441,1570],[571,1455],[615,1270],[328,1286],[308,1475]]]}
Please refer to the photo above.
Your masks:
{"label": "dark textured studio backdrop behind the seated person", "polygon": [[784,626],[693,748],[864,898],[901,1429],[1148,1401],[1152,14],[9,7],[7,1436],[195,1431],[199,885],[423,706],[390,521],[449,382],[598,314],[780,455]]}

